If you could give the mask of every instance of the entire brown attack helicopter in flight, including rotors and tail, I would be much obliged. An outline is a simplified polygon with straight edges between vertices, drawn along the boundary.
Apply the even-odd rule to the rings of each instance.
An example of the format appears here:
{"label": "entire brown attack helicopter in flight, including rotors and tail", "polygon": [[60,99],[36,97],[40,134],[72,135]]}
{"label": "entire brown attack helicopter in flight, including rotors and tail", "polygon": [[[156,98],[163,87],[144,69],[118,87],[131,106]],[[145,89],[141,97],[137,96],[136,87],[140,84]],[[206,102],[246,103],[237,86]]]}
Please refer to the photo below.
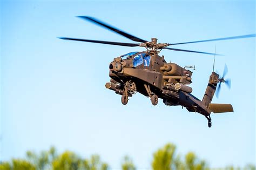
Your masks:
{"label": "entire brown attack helicopter in flight, including rotors and tail", "polygon": [[[218,55],[216,53],[173,49],[167,46],[188,43],[211,42],[215,40],[249,38],[255,37],[255,34],[169,44],[158,43],[157,38],[151,38],[150,42],[144,39],[140,39],[92,17],[79,16],[79,18],[102,26],[105,29],[114,31],[119,35],[122,35],[126,38],[133,40],[134,42],[139,43],[119,43],[103,40],[66,37],[59,37],[60,39],[130,47],[141,46],[146,48],[146,51],[129,52],[126,55],[114,58],[114,60],[109,65],[109,76],[111,79],[109,83],[106,83],[105,87],[106,89],[113,90],[117,94],[120,94],[122,96],[122,104],[126,105],[129,97],[132,97],[133,94],[139,92],[146,97],[150,97],[151,103],[153,105],[157,105],[158,98],[161,98],[163,99],[164,104],[167,106],[181,105],[182,107],[186,107],[186,109],[190,112],[198,112],[200,114],[203,114],[208,120],[208,127],[212,126],[210,116],[211,112],[233,112],[233,107],[231,104],[211,103],[216,89],[216,95],[218,97],[221,83],[225,83],[228,85],[228,87],[230,87],[231,81],[224,79],[225,74],[227,73],[226,65],[224,68],[223,76],[221,76],[221,78],[219,74],[214,72],[213,69],[213,72],[208,81],[208,85],[206,87],[203,100],[199,100],[191,94],[192,88],[190,86],[187,86],[192,83],[192,72],[190,70],[187,70],[187,67],[181,67],[175,63],[167,63],[164,59],[164,56],[159,56],[159,52],[162,49],[167,49],[174,51],[203,53],[206,55],[214,55],[215,60],[215,55]],[[193,66],[189,67],[194,68]]]}

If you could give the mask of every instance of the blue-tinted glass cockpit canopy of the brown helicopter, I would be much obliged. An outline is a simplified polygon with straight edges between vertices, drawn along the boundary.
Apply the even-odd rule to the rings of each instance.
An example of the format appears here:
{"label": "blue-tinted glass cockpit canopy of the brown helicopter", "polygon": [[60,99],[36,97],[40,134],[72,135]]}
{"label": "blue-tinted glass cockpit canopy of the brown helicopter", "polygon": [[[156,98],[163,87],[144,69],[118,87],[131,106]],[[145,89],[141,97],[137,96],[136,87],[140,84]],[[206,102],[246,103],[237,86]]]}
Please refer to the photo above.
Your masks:
{"label": "blue-tinted glass cockpit canopy of the brown helicopter", "polygon": [[144,66],[149,67],[150,66],[150,55],[147,55],[145,52],[129,52],[126,55],[122,55],[122,58],[126,59],[132,59],[132,64],[134,67],[137,67],[141,64],[144,64]]}

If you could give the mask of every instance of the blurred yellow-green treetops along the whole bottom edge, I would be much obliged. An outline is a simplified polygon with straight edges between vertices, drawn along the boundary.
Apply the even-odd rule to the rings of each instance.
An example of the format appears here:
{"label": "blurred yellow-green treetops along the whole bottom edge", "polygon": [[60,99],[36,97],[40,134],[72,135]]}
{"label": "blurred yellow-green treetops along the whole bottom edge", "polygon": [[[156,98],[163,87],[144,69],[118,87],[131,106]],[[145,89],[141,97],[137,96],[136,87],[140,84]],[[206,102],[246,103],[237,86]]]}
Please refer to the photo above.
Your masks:
{"label": "blurred yellow-green treetops along the whole bottom edge", "polygon": [[[199,159],[193,152],[184,157],[176,153],[176,146],[166,144],[153,153],[153,170],[209,170],[206,161]],[[26,159],[12,159],[9,162],[0,162],[0,170],[107,170],[109,165],[104,163],[99,155],[91,155],[89,159],[82,159],[77,154],[65,151],[58,155],[56,149],[40,154],[28,151]],[[136,170],[132,159],[128,156],[122,161],[123,170]],[[254,165],[244,168],[227,166],[226,168],[212,170],[256,170]]]}

